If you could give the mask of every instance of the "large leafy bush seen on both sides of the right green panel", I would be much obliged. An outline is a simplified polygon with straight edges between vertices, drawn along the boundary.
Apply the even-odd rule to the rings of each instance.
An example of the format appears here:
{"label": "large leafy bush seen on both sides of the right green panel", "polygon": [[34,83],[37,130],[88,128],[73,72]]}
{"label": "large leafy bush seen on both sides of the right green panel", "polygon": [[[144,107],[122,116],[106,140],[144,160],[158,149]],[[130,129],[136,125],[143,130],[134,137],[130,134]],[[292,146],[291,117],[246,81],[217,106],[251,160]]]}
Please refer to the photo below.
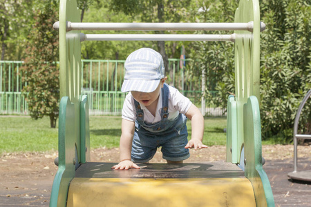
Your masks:
{"label": "large leafy bush seen on both sides of the right green panel", "polygon": [[[233,22],[236,1],[202,1],[200,21]],[[311,88],[310,3],[303,0],[260,1],[261,21],[261,125],[264,139],[277,142],[292,139],[294,117],[299,103]],[[220,33],[220,32],[216,32]],[[218,90],[220,106],[234,94],[234,48],[229,43],[203,42],[196,45],[198,59],[193,72],[205,70],[207,90]],[[301,132],[310,131],[310,102],[305,106]],[[310,122],[310,121],[309,121]],[[274,138],[275,137],[275,138]]]}

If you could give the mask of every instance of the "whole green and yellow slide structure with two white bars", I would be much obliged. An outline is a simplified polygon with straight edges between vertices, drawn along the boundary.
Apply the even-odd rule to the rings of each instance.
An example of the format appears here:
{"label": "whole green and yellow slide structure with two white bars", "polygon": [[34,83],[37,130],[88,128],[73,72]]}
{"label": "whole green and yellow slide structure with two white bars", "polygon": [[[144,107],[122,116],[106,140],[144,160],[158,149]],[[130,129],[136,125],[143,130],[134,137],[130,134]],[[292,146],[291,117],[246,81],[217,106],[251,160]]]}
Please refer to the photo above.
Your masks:
{"label": "whole green and yellow slide structure with two white bars", "polygon": [[[62,97],[59,170],[50,206],[274,206],[262,166],[258,106],[259,36],[264,27],[258,0],[241,0],[235,23],[79,23],[77,3],[60,1],[55,23]],[[111,35],[79,30],[234,30],[234,34]],[[228,100],[227,162],[144,164],[140,170],[111,170],[113,163],[90,162],[88,101],[80,92],[80,43],[86,40],[234,41],[236,95]]]}

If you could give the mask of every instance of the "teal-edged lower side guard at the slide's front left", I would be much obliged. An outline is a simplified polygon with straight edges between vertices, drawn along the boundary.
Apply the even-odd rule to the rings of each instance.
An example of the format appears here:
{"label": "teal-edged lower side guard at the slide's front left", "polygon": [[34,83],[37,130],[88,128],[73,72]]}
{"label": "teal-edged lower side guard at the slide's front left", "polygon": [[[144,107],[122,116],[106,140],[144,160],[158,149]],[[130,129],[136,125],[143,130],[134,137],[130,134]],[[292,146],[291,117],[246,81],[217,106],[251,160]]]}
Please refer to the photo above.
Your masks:
{"label": "teal-edged lower side guard at the slide's front left", "polygon": [[77,161],[75,148],[75,106],[68,97],[63,97],[59,106],[58,153],[59,165],[55,175],[50,206],[66,206],[68,187],[75,176]]}

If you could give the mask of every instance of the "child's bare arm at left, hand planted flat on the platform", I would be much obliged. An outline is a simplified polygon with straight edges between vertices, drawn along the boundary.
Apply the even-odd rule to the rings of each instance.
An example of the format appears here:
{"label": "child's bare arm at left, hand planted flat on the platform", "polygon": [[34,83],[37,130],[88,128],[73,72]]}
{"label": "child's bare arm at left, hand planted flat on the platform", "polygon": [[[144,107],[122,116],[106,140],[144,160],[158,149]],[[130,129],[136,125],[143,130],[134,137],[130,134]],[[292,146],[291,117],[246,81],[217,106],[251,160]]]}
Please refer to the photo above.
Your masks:
{"label": "child's bare arm at left, hand planted flat on the platform", "polygon": [[122,134],[120,138],[120,163],[113,166],[115,170],[128,170],[140,167],[131,161],[132,141],[135,130],[135,122],[122,119]]}

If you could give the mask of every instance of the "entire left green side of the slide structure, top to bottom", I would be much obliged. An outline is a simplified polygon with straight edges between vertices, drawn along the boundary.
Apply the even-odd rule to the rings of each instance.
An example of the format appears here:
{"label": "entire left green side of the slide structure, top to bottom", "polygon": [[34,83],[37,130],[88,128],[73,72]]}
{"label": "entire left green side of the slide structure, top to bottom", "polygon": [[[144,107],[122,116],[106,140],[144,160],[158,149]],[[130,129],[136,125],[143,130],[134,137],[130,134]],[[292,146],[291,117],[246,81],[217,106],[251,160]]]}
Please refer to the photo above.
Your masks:
{"label": "entire left green side of the slide structure, top to bottom", "polygon": [[53,181],[50,206],[66,206],[75,170],[90,159],[88,104],[81,95],[80,33],[66,32],[66,21],[80,21],[75,0],[59,2],[59,169]]}

